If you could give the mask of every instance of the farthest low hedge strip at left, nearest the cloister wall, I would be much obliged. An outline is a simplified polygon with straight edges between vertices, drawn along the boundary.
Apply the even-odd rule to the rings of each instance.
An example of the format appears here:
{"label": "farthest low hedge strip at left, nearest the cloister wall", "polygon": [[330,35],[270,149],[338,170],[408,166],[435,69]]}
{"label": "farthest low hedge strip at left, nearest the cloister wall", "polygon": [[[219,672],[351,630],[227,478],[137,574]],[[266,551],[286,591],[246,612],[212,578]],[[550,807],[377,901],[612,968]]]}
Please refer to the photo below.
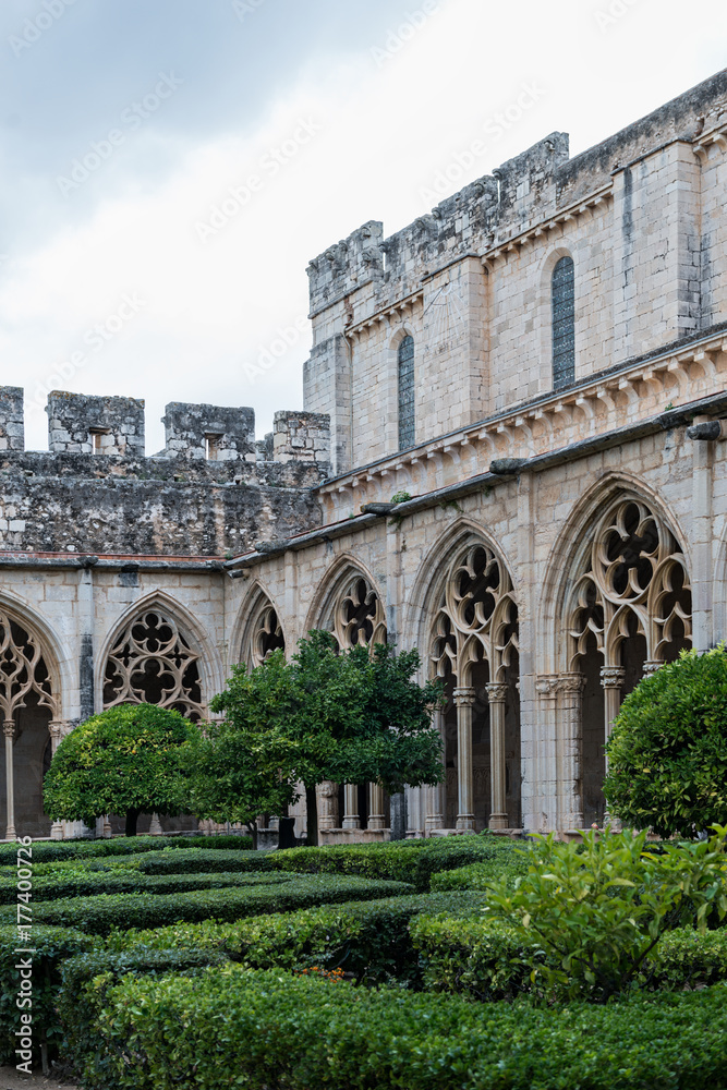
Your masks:
{"label": "farthest low hedge strip at left, nearest the cloister wall", "polygon": [[[137,852],[161,851],[165,848],[204,851],[250,851],[250,836],[135,836],[112,837],[104,840],[36,840],[33,844],[33,863],[48,863],[70,859],[96,859],[106,856],[133,856]],[[0,865],[14,864],[15,844],[0,844]]]}

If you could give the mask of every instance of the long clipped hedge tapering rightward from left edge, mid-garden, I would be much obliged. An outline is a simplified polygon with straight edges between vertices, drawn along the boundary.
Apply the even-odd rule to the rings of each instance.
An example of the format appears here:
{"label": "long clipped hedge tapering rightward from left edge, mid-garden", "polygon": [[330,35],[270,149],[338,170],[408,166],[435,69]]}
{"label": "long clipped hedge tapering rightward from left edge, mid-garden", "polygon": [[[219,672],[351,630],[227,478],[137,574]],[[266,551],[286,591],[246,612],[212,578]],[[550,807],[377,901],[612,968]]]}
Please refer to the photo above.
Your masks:
{"label": "long clipped hedge tapering rightward from left edge, mid-garden", "polygon": [[[197,889],[168,895],[100,894],[39,901],[34,906],[37,923],[76,928],[89,934],[108,934],[113,928],[155,928],[179,920],[238,920],[260,912],[289,912],[325,903],[352,898],[375,899],[410,893],[400,882],[369,882],[335,874],[293,876],[277,885],[255,884],[244,888]],[[15,908],[0,907],[0,923],[11,923]]]}

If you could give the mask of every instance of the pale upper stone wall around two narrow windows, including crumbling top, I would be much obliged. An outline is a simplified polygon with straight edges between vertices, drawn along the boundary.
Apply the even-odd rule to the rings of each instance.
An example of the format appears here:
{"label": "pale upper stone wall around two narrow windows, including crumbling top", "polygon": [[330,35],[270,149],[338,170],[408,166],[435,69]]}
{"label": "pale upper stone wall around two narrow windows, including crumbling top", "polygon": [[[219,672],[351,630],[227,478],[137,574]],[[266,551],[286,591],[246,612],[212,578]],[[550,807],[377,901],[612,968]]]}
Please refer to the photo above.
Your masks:
{"label": "pale upper stone wall around two narrow windows, including crumbling top", "polygon": [[575,267],[575,378],[727,319],[727,70],[568,158],[550,133],[396,234],[369,221],[308,267],[306,409],[336,474],[397,449],[414,338],[416,441],[553,387],[550,277]]}

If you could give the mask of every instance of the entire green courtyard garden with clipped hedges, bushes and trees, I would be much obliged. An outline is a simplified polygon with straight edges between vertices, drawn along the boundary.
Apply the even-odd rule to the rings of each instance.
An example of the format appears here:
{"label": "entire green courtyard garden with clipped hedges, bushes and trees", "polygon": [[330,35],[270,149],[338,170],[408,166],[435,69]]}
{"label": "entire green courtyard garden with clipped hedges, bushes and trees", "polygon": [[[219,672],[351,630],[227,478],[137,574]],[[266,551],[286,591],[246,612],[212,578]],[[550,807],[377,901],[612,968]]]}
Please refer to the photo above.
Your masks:
{"label": "entire green courtyard garden with clipped hedges, bushes and trees", "polygon": [[317,657],[307,695],[281,657],[241,671],[204,735],[126,705],[62,743],[51,813],[116,807],[129,835],[0,846],[0,1064],[86,1090],[727,1088],[724,650],[627,698],[614,823],[578,837],[134,835],[153,804],[244,822],[324,772],[436,782],[414,659]]}

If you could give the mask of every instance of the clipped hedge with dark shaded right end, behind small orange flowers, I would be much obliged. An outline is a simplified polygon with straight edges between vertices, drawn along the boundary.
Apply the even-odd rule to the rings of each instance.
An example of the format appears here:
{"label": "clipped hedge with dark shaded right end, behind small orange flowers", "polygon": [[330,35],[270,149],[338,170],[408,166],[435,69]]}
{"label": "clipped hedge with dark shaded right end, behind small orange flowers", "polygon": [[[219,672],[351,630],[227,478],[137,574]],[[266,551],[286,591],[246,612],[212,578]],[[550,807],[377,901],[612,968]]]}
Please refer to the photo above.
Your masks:
{"label": "clipped hedge with dark shaded right end, behind small orange flowers", "polygon": [[[130,949],[190,948],[223,952],[255,969],[312,966],[342,968],[361,981],[417,983],[419,955],[409,924],[420,912],[481,916],[478,896],[420,894],[324,905],[286,916],[256,916],[237,923],[179,923],[154,931],[113,934],[108,946]],[[453,922],[453,921],[452,921]]]}

